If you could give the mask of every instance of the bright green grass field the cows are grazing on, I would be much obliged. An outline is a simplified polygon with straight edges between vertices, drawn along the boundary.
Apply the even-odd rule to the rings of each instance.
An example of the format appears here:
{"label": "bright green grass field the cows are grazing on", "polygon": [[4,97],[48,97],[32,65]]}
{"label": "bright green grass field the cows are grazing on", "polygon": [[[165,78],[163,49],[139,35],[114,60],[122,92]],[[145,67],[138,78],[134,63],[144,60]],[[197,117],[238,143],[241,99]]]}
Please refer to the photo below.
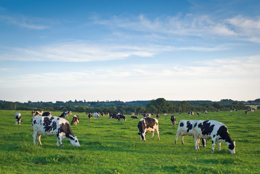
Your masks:
{"label": "bright green grass field the cows are grazing on", "polygon": [[137,134],[139,119],[126,115],[127,121],[109,121],[108,116],[88,121],[86,114],[78,113],[79,125],[71,127],[81,147],[64,139],[61,148],[56,147],[56,136],[42,135],[42,146],[37,139],[33,145],[31,112],[20,111],[21,126],[15,125],[15,113],[0,110],[0,173],[260,173],[259,110],[248,115],[244,111],[200,113],[199,117],[174,114],[176,123],[182,119],[224,123],[236,141],[234,155],[226,143],[222,143],[222,151],[216,144],[211,154],[211,141],[195,151],[192,136],[184,137],[184,145],[180,137],[174,144],[178,126],[171,125],[170,114],[160,115],[160,140],[157,134],[151,140],[148,132],[143,142]]}

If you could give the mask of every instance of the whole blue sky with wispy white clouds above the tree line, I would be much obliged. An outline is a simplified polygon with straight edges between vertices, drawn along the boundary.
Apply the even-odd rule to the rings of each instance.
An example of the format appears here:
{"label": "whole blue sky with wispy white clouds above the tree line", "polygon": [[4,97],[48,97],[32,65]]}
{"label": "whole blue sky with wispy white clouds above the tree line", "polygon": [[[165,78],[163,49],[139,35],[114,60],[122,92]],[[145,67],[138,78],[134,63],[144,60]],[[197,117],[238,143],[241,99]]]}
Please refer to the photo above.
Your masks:
{"label": "whole blue sky with wispy white clouds above the tree line", "polygon": [[260,98],[259,1],[0,1],[0,100]]}

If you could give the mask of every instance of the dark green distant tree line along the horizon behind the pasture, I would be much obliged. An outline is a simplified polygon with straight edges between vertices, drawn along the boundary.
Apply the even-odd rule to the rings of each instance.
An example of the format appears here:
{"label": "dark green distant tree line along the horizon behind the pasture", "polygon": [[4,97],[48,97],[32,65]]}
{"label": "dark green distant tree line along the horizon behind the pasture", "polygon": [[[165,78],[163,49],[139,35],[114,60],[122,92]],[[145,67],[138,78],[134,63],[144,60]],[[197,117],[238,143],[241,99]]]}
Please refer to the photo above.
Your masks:
{"label": "dark green distant tree line along the horizon behind the pasture", "polygon": [[[260,99],[256,99],[258,101]],[[230,99],[222,99],[219,102],[210,100],[195,101],[166,101],[164,98],[157,98],[150,101],[131,101],[122,102],[120,100],[105,102],[86,102],[84,101],[67,101],[61,102],[8,102],[0,100],[0,109],[4,110],[42,110],[42,111],[73,111],[73,112],[109,112],[109,113],[186,113],[190,111],[230,111],[233,108],[237,110],[246,110],[250,108],[243,104],[244,101],[234,101]],[[257,108],[258,109],[258,108]]]}

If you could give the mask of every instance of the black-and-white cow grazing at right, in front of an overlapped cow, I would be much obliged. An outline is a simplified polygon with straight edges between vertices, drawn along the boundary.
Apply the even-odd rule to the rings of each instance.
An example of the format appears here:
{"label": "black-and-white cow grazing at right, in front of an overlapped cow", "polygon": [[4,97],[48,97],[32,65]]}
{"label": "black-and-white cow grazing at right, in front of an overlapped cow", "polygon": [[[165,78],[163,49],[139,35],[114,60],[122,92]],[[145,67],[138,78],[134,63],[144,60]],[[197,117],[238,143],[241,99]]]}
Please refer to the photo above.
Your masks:
{"label": "black-and-white cow grazing at right, in front of an overlapped cow", "polygon": [[199,150],[198,140],[201,138],[212,139],[211,153],[214,153],[215,142],[218,142],[218,150],[220,151],[221,142],[226,142],[231,154],[235,154],[235,141],[232,141],[226,125],[215,120],[194,120],[193,122],[193,138],[195,150]]}

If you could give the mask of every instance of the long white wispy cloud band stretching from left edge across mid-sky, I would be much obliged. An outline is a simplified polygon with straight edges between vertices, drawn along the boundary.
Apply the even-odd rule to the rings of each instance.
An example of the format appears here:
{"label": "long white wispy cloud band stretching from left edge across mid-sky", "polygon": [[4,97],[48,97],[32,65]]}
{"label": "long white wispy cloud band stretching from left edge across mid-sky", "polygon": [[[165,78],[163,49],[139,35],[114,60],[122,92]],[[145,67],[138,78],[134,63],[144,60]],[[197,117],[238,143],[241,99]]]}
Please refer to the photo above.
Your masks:
{"label": "long white wispy cloud band stretching from left edge across mid-sky", "polygon": [[227,45],[215,47],[175,47],[154,44],[113,44],[92,41],[74,41],[33,48],[2,48],[0,60],[86,62],[125,59],[129,56],[152,57],[165,51],[216,51]]}

